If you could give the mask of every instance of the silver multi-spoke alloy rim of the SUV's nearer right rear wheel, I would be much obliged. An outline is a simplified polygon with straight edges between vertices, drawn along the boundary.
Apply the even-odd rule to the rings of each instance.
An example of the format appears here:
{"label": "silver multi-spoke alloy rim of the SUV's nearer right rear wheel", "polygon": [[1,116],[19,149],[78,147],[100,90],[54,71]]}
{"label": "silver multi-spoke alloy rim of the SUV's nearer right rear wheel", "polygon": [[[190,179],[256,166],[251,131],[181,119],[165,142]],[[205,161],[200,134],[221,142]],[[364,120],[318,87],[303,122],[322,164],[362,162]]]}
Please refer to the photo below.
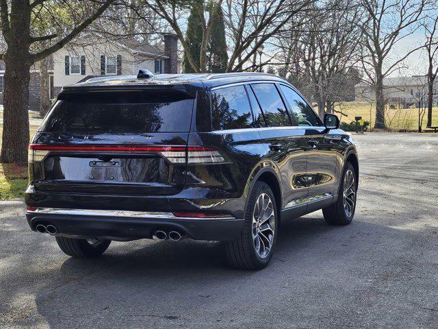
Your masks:
{"label": "silver multi-spoke alloy rim of the SUV's nearer right rear wheel", "polygon": [[275,212],[270,196],[261,193],[255,202],[253,211],[253,241],[255,252],[260,258],[266,258],[274,243]]}

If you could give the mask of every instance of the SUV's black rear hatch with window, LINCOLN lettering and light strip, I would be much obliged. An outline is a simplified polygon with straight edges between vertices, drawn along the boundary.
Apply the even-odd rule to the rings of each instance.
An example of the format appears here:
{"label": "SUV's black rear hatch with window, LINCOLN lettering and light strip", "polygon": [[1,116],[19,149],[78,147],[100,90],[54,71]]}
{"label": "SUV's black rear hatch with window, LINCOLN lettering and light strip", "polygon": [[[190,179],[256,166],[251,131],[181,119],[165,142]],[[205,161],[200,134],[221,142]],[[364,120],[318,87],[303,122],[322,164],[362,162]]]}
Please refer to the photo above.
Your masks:
{"label": "SUV's black rear hatch with window, LINCOLN lettering and light strip", "polygon": [[192,95],[175,89],[61,93],[29,147],[35,188],[179,193],[193,104]]}

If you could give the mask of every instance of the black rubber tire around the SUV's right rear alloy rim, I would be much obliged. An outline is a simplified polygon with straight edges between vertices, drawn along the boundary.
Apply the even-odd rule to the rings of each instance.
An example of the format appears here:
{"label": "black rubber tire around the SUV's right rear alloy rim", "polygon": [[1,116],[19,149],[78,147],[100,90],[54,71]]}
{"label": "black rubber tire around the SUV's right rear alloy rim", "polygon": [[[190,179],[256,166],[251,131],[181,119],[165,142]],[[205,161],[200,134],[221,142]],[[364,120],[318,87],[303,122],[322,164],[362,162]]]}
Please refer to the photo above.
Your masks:
{"label": "black rubber tire around the SUV's right rear alloy rim", "polygon": [[[263,193],[268,195],[272,202],[272,208],[274,210],[273,212],[274,219],[273,220],[270,219],[270,225],[271,227],[274,228],[273,230],[274,234],[270,235],[270,237],[272,237],[272,245],[269,248],[269,251],[267,252],[266,256],[262,258],[256,252],[256,247],[254,244],[255,239],[253,238],[253,213],[255,212],[256,202],[259,199],[259,197],[263,195]],[[266,267],[270,262],[270,259],[272,258],[272,254],[274,254],[274,249],[276,246],[276,236],[279,228],[278,225],[279,217],[277,214],[275,202],[276,200],[274,197],[274,193],[272,193],[272,190],[268,186],[268,184],[264,182],[256,182],[253,187],[253,191],[251,191],[250,193],[248,206],[246,207],[246,212],[245,212],[244,228],[240,233],[240,237],[236,241],[231,241],[231,242],[229,241],[226,243],[227,258],[229,264],[232,267],[238,269],[263,269],[263,267]],[[271,224],[271,221],[273,225]],[[257,224],[255,225],[257,226]],[[263,249],[262,247],[260,247],[260,245],[261,244],[259,242],[259,251]],[[264,245],[265,243],[263,243],[263,246]]]}

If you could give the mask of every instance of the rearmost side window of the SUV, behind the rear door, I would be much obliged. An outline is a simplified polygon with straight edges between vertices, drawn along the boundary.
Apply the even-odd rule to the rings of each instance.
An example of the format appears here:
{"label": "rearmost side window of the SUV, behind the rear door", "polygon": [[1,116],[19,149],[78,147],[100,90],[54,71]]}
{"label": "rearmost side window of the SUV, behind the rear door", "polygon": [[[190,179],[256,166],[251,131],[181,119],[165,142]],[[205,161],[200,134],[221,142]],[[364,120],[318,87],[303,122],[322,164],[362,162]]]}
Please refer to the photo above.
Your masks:
{"label": "rearmost side window of the SUV, behind the rear door", "polygon": [[215,130],[253,127],[253,114],[244,86],[211,92],[211,119]]}

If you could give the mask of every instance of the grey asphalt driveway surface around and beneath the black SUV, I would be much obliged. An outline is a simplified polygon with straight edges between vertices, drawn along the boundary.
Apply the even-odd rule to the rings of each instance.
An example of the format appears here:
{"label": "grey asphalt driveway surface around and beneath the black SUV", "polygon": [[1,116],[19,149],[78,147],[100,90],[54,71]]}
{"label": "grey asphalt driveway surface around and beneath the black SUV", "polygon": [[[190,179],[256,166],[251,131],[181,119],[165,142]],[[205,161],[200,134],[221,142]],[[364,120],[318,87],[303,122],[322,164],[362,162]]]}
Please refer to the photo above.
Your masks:
{"label": "grey asphalt driveway surface around and beneath the black SUV", "polygon": [[1,203],[0,327],[437,328],[438,135],[355,140],[355,221],[296,219],[257,272],[194,241],[113,243],[75,260],[29,231],[21,202]]}

